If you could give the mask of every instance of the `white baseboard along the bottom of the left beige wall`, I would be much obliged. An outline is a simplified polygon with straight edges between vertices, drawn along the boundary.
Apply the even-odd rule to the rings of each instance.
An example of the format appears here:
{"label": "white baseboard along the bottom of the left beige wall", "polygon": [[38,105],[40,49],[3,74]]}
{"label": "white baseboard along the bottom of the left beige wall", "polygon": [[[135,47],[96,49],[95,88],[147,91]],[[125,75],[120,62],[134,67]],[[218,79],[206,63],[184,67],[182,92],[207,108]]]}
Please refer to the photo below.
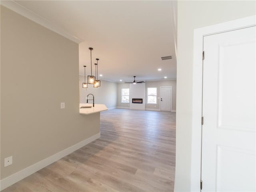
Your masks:
{"label": "white baseboard along the bottom of the left beige wall", "polygon": [[66,148],[42,161],[39,161],[23,170],[20,170],[2,180],[0,180],[0,190],[3,190],[12,184],[26,178],[27,176],[30,176],[34,172],[37,172],[38,170],[52,164],[53,162],[56,162],[57,160],[63,158],[64,156],[67,156],[68,154],[80,149],[81,147],[89,144],[90,142],[93,142],[94,140],[100,138],[100,132],[94,136],[91,136],[90,138],[87,138],[86,140],[83,140],[69,148]]}

